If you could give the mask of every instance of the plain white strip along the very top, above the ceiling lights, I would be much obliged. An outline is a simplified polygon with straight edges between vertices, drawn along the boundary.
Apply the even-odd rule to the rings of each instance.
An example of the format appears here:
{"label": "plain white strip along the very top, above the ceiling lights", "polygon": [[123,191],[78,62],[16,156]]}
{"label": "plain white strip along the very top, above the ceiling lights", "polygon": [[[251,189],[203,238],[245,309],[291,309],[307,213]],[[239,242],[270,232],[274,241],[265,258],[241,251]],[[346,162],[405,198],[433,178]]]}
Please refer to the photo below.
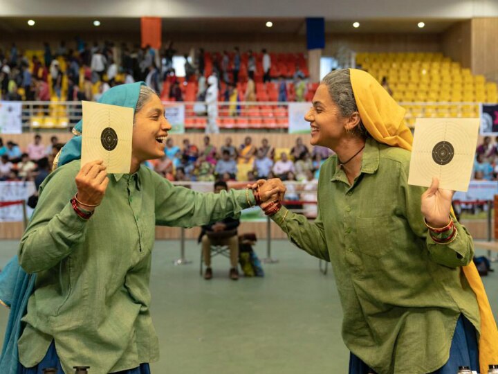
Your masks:
{"label": "plain white strip along the very top, above the ceiling lights", "polygon": [[498,17],[497,0],[0,0],[2,17]]}

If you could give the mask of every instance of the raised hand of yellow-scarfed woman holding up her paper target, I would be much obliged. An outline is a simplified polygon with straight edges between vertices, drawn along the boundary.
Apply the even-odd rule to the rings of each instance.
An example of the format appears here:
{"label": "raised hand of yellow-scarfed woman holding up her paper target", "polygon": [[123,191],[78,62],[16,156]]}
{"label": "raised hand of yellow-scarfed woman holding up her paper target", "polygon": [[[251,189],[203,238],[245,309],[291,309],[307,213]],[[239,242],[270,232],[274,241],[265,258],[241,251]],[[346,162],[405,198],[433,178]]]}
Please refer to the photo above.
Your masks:
{"label": "raised hand of yellow-scarfed woman holding up her paper target", "polygon": [[450,222],[450,210],[454,191],[439,188],[439,179],[432,178],[432,184],[422,195],[422,214],[431,227],[444,227]]}

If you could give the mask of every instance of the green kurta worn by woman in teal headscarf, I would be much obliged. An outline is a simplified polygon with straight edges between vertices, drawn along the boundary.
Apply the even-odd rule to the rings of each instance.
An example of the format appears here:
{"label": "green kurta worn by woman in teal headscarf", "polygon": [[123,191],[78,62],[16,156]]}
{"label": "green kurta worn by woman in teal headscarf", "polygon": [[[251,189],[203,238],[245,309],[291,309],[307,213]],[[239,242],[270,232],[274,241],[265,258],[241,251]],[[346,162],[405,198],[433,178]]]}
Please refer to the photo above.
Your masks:
{"label": "green kurta worn by woman in teal headscarf", "polygon": [[37,273],[37,283],[19,360],[34,366],[55,340],[66,373],[78,365],[97,374],[156,361],[149,310],[156,224],[192,227],[237,216],[248,207],[246,192],[196,193],[142,166],[133,175],[109,175],[102,204],[85,221],[69,202],[79,170],[78,160],[49,175],[21,239],[19,262]]}

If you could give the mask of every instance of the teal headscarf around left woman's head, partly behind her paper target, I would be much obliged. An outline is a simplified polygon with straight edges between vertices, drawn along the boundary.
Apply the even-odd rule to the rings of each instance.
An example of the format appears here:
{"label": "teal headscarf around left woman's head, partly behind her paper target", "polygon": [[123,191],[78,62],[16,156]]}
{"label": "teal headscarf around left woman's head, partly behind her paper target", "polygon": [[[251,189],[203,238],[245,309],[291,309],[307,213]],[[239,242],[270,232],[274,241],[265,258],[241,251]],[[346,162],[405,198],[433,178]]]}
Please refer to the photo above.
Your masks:
{"label": "teal headscarf around left woman's head, partly behind her paper target", "polygon": [[[138,95],[140,95],[140,87],[145,86],[145,82],[136,82],[130,84],[120,84],[119,86],[113,87],[102,94],[99,103],[109,104],[109,105],[119,105],[120,107],[127,107],[136,109],[136,103],[138,101]],[[77,135],[62,147],[59,154],[57,166],[62,166],[65,163],[69,163],[73,160],[81,159],[81,148],[82,148],[82,132],[83,132],[83,121],[78,122],[73,132]]]}

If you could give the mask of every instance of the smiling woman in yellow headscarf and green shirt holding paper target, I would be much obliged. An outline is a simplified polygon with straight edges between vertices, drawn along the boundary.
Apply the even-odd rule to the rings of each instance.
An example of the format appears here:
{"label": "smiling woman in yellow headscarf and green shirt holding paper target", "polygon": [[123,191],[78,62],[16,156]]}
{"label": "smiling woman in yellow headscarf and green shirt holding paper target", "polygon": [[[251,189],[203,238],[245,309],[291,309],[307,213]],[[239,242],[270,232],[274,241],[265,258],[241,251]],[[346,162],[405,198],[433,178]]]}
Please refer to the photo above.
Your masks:
{"label": "smiling woman in yellow headscarf and green shirt holding paper target", "polygon": [[472,238],[450,213],[452,191],[437,179],[427,190],[408,185],[404,116],[365,71],[329,73],[305,117],[311,144],[335,152],[320,169],[317,219],[278,202],[261,208],[298,247],[331,262],[350,374],[487,373],[498,364],[498,332]]}

